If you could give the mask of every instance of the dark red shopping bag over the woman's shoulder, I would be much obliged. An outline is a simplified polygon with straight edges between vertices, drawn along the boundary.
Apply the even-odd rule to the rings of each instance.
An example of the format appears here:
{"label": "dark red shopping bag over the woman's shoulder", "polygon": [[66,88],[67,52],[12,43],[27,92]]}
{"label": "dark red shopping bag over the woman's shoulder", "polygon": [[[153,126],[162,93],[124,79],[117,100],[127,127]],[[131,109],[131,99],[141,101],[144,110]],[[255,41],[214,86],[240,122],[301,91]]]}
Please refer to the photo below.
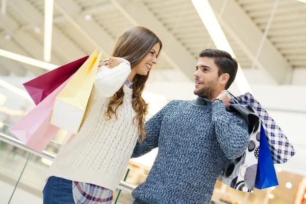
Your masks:
{"label": "dark red shopping bag over the woman's shoulder", "polygon": [[38,105],[46,96],[69,79],[88,58],[89,56],[86,56],[70,62],[24,83],[23,86],[32,97],[35,105]]}

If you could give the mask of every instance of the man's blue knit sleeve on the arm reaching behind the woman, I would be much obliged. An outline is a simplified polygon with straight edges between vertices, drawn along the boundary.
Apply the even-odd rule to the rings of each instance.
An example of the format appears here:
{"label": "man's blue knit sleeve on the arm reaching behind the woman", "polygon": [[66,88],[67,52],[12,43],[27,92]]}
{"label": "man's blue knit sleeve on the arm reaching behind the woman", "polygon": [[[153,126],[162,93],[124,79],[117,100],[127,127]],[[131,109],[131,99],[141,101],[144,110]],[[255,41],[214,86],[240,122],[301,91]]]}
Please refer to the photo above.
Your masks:
{"label": "man's blue knit sleeve on the arm reaching behind the woman", "polygon": [[142,142],[137,141],[132,158],[143,156],[152,149],[158,147],[158,140],[164,113],[170,104],[172,104],[172,101],[145,123],[145,139]]}

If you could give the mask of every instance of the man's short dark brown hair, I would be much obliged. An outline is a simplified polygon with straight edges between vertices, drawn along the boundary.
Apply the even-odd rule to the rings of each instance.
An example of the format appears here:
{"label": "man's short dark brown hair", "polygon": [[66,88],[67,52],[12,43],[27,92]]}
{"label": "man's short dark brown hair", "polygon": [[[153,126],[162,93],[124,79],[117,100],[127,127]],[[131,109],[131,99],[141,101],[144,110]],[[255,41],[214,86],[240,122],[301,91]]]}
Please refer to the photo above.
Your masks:
{"label": "man's short dark brown hair", "polygon": [[228,73],[230,75],[230,79],[228,79],[225,85],[225,89],[230,88],[236,78],[236,73],[238,70],[238,61],[235,58],[232,58],[229,53],[219,49],[204,49],[199,54],[199,58],[201,57],[214,58],[214,62],[219,68],[219,77],[223,73]]}

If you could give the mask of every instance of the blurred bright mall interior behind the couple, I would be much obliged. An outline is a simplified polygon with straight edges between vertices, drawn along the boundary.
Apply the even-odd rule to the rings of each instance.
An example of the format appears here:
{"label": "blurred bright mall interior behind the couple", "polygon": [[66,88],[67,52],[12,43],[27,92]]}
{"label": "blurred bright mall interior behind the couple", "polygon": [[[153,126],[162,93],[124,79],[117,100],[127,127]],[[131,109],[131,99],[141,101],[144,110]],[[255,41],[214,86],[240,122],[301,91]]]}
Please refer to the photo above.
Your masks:
{"label": "blurred bright mall interior behind the couple", "polygon": [[[244,193],[217,182],[211,203],[306,203],[305,0],[1,0],[0,8],[0,203],[42,203],[51,163],[3,139],[14,138],[10,126],[35,106],[22,83],[95,48],[110,57],[119,35],[134,25],[164,44],[143,94],[147,119],[170,100],[196,98],[198,53],[218,48],[241,67],[230,91],[251,91],[296,149],[289,162],[275,165],[279,186]],[[59,131],[45,150],[56,155],[67,135]],[[142,183],[157,151],[132,159],[122,180]],[[124,191],[114,198],[133,202]]]}

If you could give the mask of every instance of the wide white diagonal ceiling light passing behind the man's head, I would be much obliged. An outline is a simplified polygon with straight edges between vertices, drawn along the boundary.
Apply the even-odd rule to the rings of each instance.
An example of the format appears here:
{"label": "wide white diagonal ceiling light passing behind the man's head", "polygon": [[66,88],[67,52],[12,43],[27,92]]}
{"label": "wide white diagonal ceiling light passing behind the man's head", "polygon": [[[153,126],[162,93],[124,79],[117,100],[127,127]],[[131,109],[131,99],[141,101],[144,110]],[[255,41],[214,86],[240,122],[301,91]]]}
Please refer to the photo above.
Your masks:
{"label": "wide white diagonal ceiling light passing behind the man's head", "polygon": [[[197,10],[203,24],[205,25],[208,33],[210,34],[214,44],[216,45],[217,49],[224,50],[230,53],[233,58],[236,58],[232,50],[232,47],[230,43],[228,43],[208,0],[191,0],[191,1],[195,9]],[[239,64],[238,64],[238,71],[235,83],[237,84],[241,93],[252,92]]]}

